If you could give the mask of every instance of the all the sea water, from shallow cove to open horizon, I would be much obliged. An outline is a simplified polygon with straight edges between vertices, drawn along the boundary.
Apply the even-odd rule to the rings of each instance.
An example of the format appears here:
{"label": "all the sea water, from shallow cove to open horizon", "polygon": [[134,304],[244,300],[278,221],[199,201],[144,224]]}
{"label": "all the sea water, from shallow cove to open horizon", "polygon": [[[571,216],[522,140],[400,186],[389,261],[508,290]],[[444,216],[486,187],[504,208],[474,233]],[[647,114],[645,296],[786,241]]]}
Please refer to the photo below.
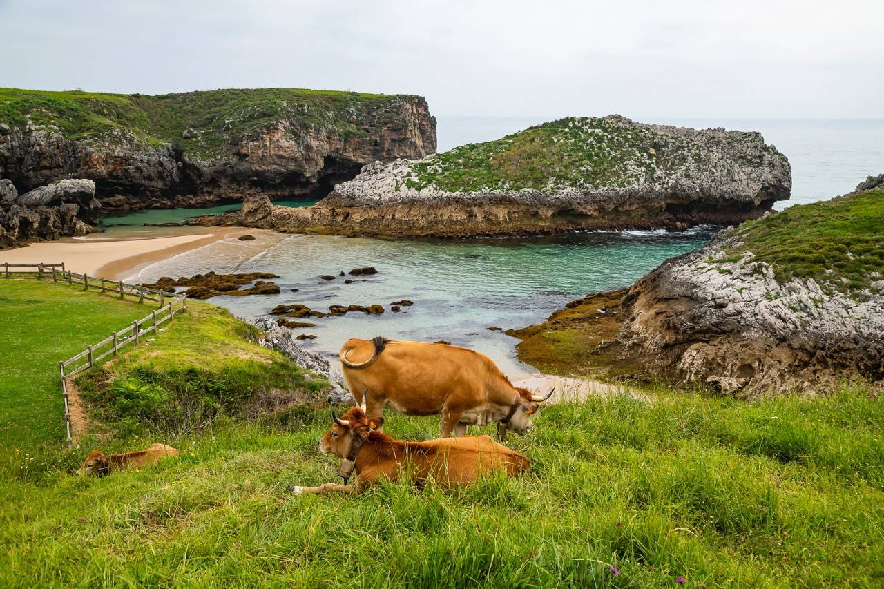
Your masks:
{"label": "all the sea water, from shallow cove to open horizon", "polygon": [[[440,117],[438,150],[483,142],[549,120],[545,117]],[[884,119],[639,119],[695,128],[758,131],[792,165],[793,190],[778,210],[850,192],[868,175],[884,172]],[[287,202],[307,206],[315,201]],[[150,210],[104,218],[106,237],[187,233],[191,228],[145,227],[221,210]],[[383,315],[348,313],[311,319],[296,330],[316,336],[303,346],[329,357],[351,337],[445,340],[484,352],[507,374],[521,377],[536,368],[515,354],[518,340],[503,331],[543,321],[565,303],[591,292],[627,287],[669,257],[699,249],[719,229],[701,226],[685,233],[664,231],[583,232],[551,237],[474,240],[403,240],[287,235],[255,232],[255,241],[225,239],[172,256],[127,276],[149,282],[161,276],[208,272],[274,272],[279,295],[217,296],[211,302],[240,317],[266,314],[280,303],[300,302],[314,310],[332,304],[385,306]],[[102,239],[102,236],[97,236]],[[377,274],[331,281],[372,265]],[[297,289],[297,290],[295,290]],[[408,300],[400,312],[391,303]],[[490,329],[493,328],[493,329]]]}

